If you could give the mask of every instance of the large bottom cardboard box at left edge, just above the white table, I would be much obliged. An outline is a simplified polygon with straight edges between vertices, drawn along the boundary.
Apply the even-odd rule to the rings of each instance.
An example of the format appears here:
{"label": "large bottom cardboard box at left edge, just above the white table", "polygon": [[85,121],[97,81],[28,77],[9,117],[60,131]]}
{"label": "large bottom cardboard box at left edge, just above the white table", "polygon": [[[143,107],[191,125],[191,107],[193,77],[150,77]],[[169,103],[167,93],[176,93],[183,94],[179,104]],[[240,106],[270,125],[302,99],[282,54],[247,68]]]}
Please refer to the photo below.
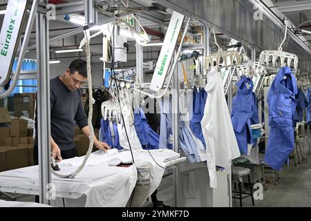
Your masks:
{"label": "large bottom cardboard box at left edge, just above the white table", "polygon": [[19,169],[29,164],[29,153],[26,147],[4,146],[6,150],[7,170]]}

